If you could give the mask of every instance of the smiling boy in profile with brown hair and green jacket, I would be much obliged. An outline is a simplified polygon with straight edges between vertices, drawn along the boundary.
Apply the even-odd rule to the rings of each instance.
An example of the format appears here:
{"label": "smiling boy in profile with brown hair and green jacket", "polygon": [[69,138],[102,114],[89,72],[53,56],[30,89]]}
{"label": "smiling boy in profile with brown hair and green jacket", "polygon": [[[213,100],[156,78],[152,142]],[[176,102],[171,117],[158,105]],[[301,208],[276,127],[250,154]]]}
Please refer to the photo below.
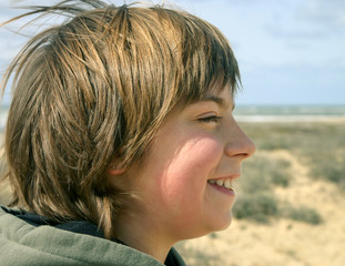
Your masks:
{"label": "smiling boy in profile with brown hair and green jacket", "polygon": [[1,257],[184,265],[172,246],[231,224],[233,183],[255,151],[232,114],[240,72],[226,39],[156,6],[32,9],[67,21],[4,76],[3,90],[17,74],[6,158],[21,209],[0,211]]}

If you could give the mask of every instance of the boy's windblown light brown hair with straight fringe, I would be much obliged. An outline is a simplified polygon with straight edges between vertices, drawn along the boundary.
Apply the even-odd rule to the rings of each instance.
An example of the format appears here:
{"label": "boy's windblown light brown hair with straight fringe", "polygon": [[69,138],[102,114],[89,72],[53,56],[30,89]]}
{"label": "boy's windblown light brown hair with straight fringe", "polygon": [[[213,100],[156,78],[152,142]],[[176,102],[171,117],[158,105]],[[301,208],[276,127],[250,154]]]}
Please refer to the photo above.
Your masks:
{"label": "boy's windblown light brown hair with straight fringe", "polygon": [[13,204],[113,237],[128,192],[106,183],[109,165],[140,161],[176,103],[215,82],[234,93],[236,60],[214,25],[183,11],[94,0],[31,9],[21,17],[67,19],[27,43],[1,85],[14,75],[4,143]]}

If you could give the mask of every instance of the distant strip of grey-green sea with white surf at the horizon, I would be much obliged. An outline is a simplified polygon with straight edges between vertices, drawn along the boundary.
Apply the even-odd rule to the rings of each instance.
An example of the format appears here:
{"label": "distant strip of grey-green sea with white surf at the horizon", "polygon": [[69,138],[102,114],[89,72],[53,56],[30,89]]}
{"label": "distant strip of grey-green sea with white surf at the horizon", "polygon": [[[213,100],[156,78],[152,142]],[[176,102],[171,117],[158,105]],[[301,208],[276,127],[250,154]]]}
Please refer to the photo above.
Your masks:
{"label": "distant strip of grey-green sea with white surf at the horizon", "polygon": [[[0,108],[0,131],[4,130],[8,110]],[[234,116],[240,122],[345,122],[345,105],[237,105]]]}

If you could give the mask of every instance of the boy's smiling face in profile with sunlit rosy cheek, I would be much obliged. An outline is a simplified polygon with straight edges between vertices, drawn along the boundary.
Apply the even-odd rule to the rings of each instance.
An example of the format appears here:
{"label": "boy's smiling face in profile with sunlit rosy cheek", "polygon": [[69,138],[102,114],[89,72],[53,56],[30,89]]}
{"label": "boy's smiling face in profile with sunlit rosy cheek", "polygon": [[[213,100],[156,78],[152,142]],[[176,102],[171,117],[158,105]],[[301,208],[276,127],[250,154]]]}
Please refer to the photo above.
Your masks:
{"label": "boy's smiling face in profile with sunlit rosy cheek", "polygon": [[171,113],[132,173],[131,190],[141,198],[132,206],[135,213],[175,241],[231,223],[232,187],[255,146],[233,119],[229,91]]}

